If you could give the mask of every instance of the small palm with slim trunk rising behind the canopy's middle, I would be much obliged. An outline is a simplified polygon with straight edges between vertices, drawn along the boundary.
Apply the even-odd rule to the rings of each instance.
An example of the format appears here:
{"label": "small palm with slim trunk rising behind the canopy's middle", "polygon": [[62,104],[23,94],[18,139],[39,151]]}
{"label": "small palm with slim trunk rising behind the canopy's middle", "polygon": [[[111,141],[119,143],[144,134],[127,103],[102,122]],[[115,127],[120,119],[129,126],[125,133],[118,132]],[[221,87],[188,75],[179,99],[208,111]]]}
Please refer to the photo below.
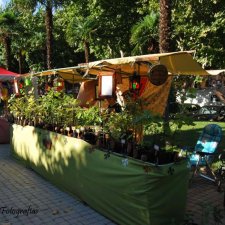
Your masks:
{"label": "small palm with slim trunk rising behind the canopy's middle", "polygon": [[78,50],[84,50],[86,63],[89,62],[92,34],[96,30],[97,23],[93,16],[86,18],[73,17],[67,26],[66,36],[68,43],[78,47]]}

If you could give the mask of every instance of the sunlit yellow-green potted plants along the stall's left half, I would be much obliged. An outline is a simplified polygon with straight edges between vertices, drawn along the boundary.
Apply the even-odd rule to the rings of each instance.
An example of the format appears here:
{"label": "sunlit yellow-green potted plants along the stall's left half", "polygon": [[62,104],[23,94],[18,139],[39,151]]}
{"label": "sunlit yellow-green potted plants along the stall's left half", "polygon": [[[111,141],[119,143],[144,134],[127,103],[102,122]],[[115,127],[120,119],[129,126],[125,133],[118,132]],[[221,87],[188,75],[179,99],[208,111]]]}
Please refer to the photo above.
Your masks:
{"label": "sunlit yellow-green potted plants along the stall's left half", "polygon": [[9,101],[10,113],[14,118],[23,118],[46,125],[94,126],[101,125],[102,117],[98,107],[84,109],[72,95],[51,89],[47,94],[35,99],[33,95],[16,97]]}

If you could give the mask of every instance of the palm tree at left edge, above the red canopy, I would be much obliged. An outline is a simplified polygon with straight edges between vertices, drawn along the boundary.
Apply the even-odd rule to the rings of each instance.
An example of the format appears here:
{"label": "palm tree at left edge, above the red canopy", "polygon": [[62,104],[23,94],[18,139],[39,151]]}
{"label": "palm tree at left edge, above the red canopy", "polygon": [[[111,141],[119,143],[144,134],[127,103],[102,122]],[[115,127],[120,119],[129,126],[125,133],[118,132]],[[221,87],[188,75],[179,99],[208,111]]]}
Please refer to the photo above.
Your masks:
{"label": "palm tree at left edge, above the red canopy", "polygon": [[11,37],[14,34],[13,27],[16,25],[16,16],[12,11],[0,13],[0,42],[5,48],[5,64],[11,69]]}

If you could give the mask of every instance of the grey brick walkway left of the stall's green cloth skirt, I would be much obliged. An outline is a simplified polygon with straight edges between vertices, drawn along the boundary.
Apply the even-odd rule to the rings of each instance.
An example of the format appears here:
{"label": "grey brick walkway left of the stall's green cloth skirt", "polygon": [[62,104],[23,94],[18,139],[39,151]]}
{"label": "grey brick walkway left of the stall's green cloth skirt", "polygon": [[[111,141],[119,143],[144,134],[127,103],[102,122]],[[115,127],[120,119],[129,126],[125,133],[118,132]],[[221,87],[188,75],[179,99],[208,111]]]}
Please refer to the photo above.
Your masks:
{"label": "grey brick walkway left of the stall's green cloth skirt", "polygon": [[[18,214],[18,216],[17,216]],[[0,145],[0,225],[114,225],[14,161]]]}

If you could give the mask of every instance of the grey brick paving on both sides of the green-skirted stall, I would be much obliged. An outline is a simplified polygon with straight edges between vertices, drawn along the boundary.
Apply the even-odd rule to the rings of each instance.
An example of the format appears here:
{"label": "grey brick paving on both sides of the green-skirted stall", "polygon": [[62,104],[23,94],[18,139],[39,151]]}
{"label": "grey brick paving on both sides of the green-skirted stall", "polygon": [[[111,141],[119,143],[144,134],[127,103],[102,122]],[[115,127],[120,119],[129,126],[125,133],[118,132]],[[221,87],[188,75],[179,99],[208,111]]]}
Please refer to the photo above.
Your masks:
{"label": "grey brick paving on both sides of the green-skirted stall", "polygon": [[[115,225],[17,163],[9,150],[9,145],[0,145],[0,225]],[[195,178],[188,190],[187,215],[198,225],[225,224],[225,218],[221,223],[214,219],[225,215],[223,193]]]}

